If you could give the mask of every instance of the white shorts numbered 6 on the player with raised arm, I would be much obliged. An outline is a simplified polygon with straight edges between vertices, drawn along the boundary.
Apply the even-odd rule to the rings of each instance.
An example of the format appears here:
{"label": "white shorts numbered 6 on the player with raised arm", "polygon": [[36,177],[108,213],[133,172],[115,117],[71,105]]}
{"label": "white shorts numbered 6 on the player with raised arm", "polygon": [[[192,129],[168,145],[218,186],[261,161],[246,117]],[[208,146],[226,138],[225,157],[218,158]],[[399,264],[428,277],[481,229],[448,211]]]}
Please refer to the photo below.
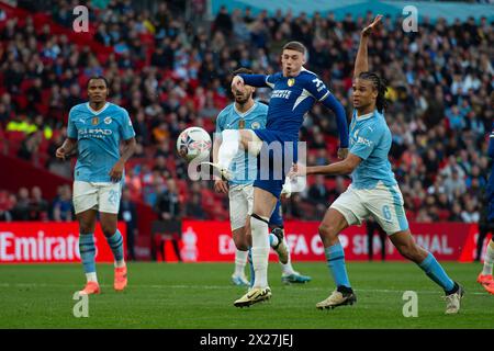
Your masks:
{"label": "white shorts numbered 6 on the player with raised arm", "polygon": [[398,185],[379,182],[374,189],[355,189],[351,184],[329,206],[344,215],[348,225],[374,217],[388,235],[408,229],[403,195]]}

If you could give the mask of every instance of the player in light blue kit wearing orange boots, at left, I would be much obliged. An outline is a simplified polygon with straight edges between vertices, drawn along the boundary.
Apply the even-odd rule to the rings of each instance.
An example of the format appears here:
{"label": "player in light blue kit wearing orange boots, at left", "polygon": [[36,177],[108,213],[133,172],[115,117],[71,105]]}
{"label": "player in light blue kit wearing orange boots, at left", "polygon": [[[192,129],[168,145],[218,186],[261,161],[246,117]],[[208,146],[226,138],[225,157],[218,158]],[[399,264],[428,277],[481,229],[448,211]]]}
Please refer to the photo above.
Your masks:
{"label": "player in light blue kit wearing orange boots, at left", "polygon": [[[80,294],[99,294],[94,263],[94,226],[97,214],[115,259],[113,287],[123,291],[127,285],[123,238],[116,228],[125,162],[134,154],[135,133],[127,111],[106,102],[108,81],[93,77],[88,81],[89,102],[69,112],[67,139],[56,150],[65,159],[75,148],[79,156],[75,169],[74,207],[79,222],[79,251],[87,284]],[[120,155],[120,141],[123,152]]]}

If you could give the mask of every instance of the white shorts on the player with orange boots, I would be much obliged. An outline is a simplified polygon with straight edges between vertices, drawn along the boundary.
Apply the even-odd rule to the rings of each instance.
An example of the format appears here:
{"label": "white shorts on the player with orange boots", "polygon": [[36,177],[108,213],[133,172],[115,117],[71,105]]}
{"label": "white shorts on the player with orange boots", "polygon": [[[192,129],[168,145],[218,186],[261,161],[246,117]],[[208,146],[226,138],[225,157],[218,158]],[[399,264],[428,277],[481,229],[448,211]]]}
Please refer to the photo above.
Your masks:
{"label": "white shorts on the player with orange boots", "polygon": [[99,212],[117,214],[122,184],[100,182],[74,182],[74,208],[76,214],[98,210]]}

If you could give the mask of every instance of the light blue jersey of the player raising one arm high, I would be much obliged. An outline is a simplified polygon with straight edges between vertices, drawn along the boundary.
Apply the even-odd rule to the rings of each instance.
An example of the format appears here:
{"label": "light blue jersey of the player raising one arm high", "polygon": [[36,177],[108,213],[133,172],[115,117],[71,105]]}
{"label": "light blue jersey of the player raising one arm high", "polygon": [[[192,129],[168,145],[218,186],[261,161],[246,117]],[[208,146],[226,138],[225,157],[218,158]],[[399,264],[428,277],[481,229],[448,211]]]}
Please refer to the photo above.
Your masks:
{"label": "light blue jersey of the player raising one arm high", "polygon": [[396,184],[388,154],[391,148],[391,132],[384,116],[373,113],[353,117],[350,123],[350,152],[362,159],[351,173],[356,189],[374,189],[379,181],[386,186]]}

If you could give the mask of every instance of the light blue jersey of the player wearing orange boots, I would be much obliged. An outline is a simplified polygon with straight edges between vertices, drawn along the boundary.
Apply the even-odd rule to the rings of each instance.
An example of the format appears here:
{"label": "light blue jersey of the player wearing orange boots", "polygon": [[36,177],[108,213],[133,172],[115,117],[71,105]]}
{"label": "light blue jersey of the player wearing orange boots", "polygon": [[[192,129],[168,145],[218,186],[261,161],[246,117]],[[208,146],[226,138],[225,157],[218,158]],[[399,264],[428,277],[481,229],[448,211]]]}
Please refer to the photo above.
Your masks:
{"label": "light blue jersey of the player wearing orange boots", "polygon": [[106,102],[94,111],[81,103],[69,112],[67,136],[78,141],[75,180],[112,182],[109,173],[120,159],[120,141],[133,138],[135,132],[125,109]]}

